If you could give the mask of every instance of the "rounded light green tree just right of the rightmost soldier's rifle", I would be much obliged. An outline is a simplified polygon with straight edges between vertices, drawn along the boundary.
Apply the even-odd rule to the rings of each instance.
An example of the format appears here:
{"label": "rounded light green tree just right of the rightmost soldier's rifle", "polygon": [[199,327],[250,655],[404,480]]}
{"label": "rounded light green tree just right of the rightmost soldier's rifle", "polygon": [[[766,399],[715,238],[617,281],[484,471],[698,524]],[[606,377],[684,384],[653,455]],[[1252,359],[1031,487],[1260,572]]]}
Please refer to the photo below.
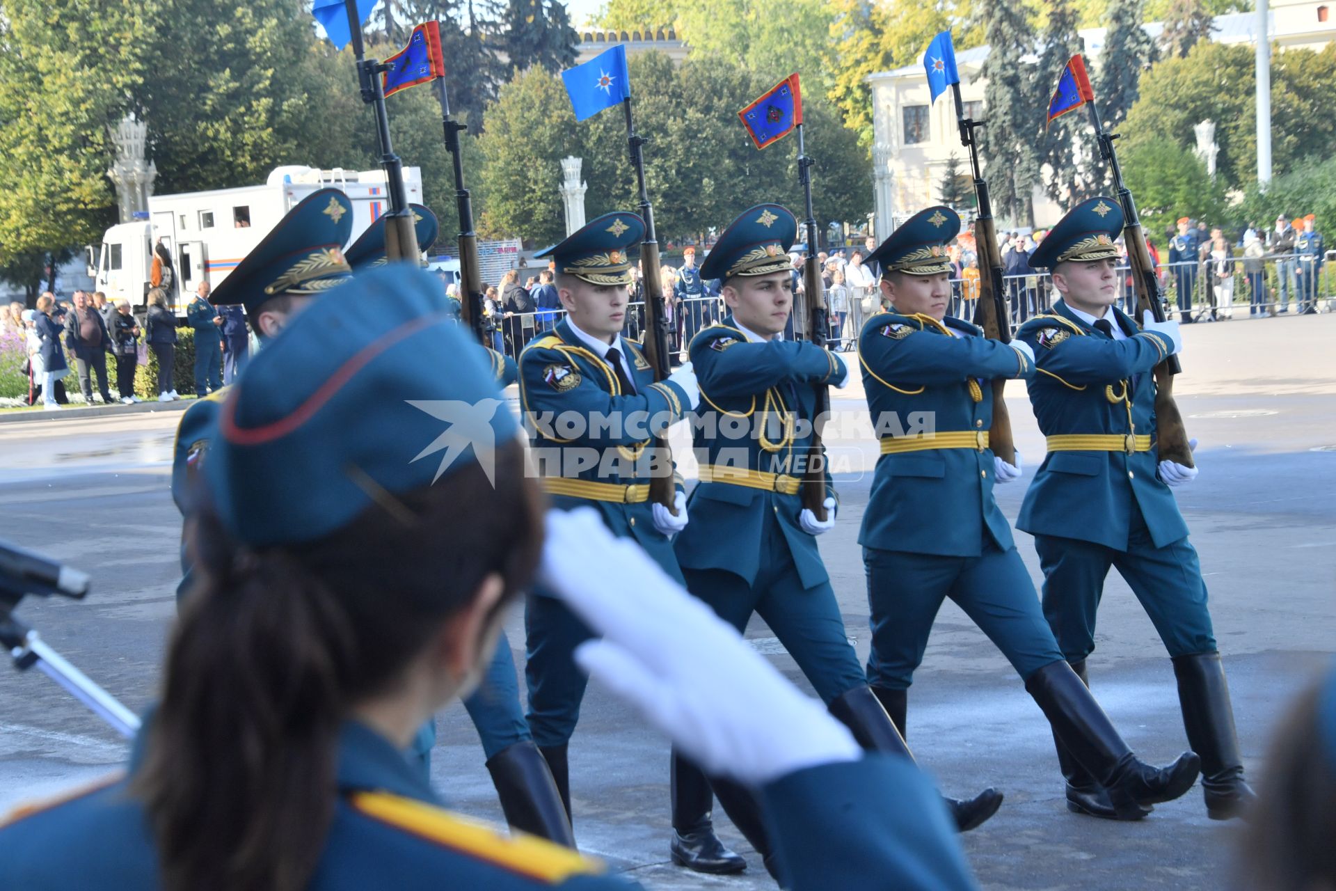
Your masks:
{"label": "rounded light green tree just right of the rightmost soldier's rifle", "polygon": [[1188,148],[1166,139],[1144,140],[1125,148],[1118,160],[1148,232],[1162,232],[1178,216],[1224,220],[1224,190]]}

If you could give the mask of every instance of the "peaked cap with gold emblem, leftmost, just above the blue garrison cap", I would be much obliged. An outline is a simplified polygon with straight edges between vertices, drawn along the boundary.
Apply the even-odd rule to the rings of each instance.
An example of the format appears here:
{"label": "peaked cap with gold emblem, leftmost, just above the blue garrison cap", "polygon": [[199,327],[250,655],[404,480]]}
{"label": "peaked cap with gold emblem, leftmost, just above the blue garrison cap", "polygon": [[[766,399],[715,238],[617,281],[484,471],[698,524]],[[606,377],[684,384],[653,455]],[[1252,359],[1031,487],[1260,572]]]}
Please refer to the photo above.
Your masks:
{"label": "peaked cap with gold emblem, leftmost, just above the blue garrison cap", "polygon": [[254,317],[270,298],[322,294],[353,274],[343,258],[351,234],[347,195],[337,188],[314,191],[278,220],[208,299],[215,306],[240,303]]}

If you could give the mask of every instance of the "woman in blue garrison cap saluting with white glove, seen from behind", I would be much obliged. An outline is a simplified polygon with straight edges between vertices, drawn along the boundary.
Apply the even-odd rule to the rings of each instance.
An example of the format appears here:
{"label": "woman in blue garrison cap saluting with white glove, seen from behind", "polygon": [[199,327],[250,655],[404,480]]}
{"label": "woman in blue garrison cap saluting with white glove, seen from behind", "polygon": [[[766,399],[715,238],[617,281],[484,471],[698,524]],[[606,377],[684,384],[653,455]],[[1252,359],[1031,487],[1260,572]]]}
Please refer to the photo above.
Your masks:
{"label": "woman in blue garrison cap saluting with white glove, seen from behind", "polygon": [[[386,399],[386,386],[418,399]],[[512,414],[446,426],[418,407],[500,397],[437,283],[403,266],[355,278],[261,351],[228,390],[202,470],[200,580],[130,775],[0,830],[5,886],[633,887],[574,851],[446,811],[405,759],[417,728],[482,673],[542,553]],[[418,460],[461,425],[458,453]],[[918,771],[860,757],[600,525],[550,518],[544,557],[550,589],[605,636],[589,664],[635,679],[620,692],[657,727],[760,789],[790,887],[975,887]],[[687,644],[699,649],[683,655]],[[850,811],[858,827],[843,826]]]}

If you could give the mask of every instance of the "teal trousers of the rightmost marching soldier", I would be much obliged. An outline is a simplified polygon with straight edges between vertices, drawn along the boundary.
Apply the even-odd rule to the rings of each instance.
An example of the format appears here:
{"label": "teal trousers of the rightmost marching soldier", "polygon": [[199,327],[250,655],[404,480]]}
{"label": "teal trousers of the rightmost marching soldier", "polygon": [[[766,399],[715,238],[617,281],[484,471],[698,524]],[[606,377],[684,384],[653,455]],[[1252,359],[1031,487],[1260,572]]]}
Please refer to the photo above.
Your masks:
{"label": "teal trousers of the rightmost marching soldier", "polygon": [[1126,550],[1057,536],[1035,536],[1034,549],[1043,568],[1043,614],[1067,661],[1094,652],[1096,613],[1110,566],[1141,601],[1169,656],[1216,652],[1197,550],[1186,537],[1156,548],[1140,510],[1133,512]]}

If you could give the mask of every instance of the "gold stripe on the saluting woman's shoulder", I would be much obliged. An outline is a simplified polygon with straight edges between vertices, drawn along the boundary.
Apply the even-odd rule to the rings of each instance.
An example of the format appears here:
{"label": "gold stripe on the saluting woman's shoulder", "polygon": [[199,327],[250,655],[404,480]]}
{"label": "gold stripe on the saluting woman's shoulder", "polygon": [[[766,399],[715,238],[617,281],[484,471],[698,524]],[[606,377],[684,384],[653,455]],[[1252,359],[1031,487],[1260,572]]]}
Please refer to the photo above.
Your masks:
{"label": "gold stripe on the saluting woman's shoulder", "polygon": [[366,816],[506,872],[557,884],[574,875],[605,872],[601,860],[533,835],[505,835],[497,827],[389,792],[358,792],[353,807]]}

